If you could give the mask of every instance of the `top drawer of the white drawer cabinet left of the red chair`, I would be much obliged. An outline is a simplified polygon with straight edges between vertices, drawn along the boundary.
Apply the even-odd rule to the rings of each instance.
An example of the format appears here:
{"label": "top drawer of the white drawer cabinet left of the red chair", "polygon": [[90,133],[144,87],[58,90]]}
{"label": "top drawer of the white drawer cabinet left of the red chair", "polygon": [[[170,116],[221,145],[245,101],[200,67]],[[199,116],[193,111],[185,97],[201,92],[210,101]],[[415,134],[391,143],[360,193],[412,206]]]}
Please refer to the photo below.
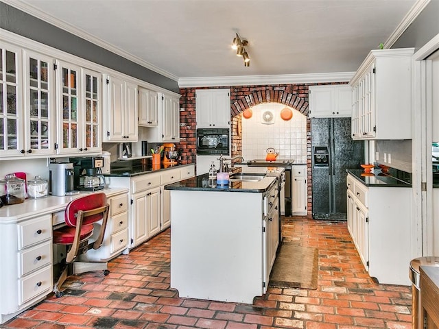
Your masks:
{"label": "top drawer of the white drawer cabinet left of the red chair", "polygon": [[29,221],[23,221],[19,229],[19,250],[35,243],[51,239],[52,217],[45,215]]}

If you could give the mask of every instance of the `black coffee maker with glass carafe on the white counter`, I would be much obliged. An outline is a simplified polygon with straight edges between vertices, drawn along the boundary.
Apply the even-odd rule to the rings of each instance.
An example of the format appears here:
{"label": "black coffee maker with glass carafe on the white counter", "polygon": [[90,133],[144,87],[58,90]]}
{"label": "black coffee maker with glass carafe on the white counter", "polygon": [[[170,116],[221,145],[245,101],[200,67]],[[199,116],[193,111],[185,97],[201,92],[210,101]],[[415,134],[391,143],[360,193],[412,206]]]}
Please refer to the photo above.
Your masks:
{"label": "black coffee maker with glass carafe on the white counter", "polygon": [[105,187],[102,156],[69,158],[73,163],[73,185],[79,191],[99,191]]}

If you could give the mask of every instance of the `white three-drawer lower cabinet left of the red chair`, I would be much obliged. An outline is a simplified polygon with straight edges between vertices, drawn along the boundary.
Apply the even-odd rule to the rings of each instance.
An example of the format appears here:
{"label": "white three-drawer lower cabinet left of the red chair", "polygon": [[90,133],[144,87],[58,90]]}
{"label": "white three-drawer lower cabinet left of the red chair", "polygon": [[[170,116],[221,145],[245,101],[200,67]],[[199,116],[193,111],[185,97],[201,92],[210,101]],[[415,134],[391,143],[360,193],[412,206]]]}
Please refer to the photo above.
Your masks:
{"label": "white three-drawer lower cabinet left of the red chair", "polygon": [[0,323],[43,300],[51,292],[52,220],[42,215],[23,221],[1,223]]}

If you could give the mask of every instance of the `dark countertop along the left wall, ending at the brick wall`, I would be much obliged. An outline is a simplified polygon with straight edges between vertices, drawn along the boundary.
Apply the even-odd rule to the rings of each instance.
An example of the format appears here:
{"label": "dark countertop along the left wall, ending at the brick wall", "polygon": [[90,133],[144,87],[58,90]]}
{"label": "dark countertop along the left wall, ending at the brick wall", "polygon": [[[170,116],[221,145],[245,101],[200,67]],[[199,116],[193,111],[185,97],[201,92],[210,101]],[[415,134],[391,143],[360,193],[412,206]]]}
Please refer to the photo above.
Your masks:
{"label": "dark countertop along the left wall, ending at the brick wall", "polygon": [[165,171],[169,169],[182,168],[192,165],[189,164],[174,164],[169,166],[164,166],[163,164],[160,167],[152,167],[150,161],[147,161],[146,164],[141,164],[141,162],[130,160],[121,160],[117,162],[111,162],[110,173],[104,174],[107,177],[133,177],[138,175],[145,175],[146,173],[156,173],[158,171]]}

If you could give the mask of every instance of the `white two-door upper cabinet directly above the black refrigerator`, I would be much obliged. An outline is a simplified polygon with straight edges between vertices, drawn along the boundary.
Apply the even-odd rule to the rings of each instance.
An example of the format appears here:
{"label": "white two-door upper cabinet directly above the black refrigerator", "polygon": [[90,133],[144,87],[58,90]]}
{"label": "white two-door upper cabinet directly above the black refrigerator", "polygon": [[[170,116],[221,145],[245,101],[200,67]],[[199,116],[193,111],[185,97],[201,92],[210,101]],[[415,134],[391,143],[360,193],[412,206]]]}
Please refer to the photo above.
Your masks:
{"label": "white two-door upper cabinet directly above the black refrigerator", "polygon": [[308,95],[310,118],[351,117],[351,86],[309,86]]}

